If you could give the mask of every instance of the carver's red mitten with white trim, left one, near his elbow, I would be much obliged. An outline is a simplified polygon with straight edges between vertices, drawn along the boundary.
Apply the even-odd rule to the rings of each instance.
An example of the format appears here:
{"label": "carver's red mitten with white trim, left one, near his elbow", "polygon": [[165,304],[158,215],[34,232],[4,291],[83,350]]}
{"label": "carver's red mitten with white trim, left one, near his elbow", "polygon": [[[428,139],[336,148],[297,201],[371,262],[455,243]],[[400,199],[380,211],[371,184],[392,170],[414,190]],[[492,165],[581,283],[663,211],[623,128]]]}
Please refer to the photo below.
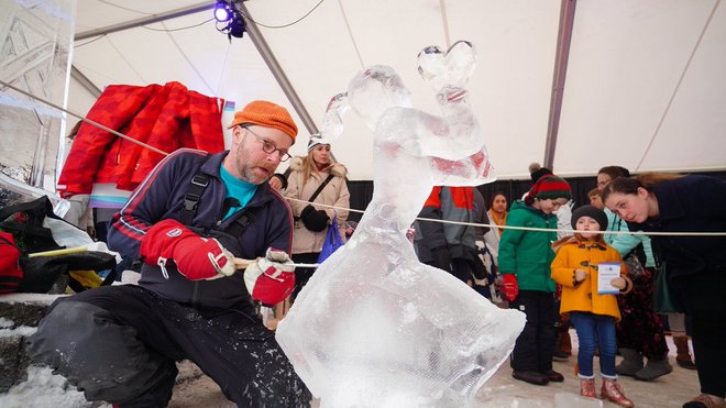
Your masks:
{"label": "carver's red mitten with white trim, left one, near his elbow", "polygon": [[146,231],[141,240],[144,262],[162,267],[174,261],[179,273],[190,280],[216,279],[231,276],[234,256],[217,240],[202,238],[176,220],[163,220]]}

